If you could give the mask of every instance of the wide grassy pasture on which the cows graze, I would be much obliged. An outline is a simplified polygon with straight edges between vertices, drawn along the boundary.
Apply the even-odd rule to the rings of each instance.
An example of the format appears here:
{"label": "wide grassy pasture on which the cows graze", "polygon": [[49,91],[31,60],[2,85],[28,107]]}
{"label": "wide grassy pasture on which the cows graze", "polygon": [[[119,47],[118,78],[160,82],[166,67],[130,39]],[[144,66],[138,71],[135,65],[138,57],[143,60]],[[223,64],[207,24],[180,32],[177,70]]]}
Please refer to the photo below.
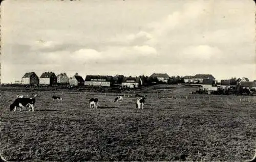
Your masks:
{"label": "wide grassy pasture on which the cows graze", "polygon": [[[193,96],[182,87],[141,94],[150,91],[160,96],[147,97],[144,110],[134,95],[115,104],[111,95],[36,92],[35,112],[10,112],[21,92],[2,91],[1,154],[11,161],[242,161],[254,154],[255,96]],[[93,96],[97,110],[89,108]]]}

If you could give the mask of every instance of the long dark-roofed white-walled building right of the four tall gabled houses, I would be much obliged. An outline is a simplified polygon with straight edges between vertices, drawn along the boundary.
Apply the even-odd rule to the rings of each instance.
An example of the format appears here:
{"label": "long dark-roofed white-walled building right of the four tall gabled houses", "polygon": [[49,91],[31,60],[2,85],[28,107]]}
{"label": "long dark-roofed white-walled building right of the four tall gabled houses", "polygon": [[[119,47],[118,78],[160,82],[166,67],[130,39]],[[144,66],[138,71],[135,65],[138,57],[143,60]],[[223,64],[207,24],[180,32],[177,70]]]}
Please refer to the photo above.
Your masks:
{"label": "long dark-roofed white-walled building right of the four tall gabled houses", "polygon": [[113,76],[110,75],[87,75],[84,80],[86,86],[110,87],[113,83]]}

